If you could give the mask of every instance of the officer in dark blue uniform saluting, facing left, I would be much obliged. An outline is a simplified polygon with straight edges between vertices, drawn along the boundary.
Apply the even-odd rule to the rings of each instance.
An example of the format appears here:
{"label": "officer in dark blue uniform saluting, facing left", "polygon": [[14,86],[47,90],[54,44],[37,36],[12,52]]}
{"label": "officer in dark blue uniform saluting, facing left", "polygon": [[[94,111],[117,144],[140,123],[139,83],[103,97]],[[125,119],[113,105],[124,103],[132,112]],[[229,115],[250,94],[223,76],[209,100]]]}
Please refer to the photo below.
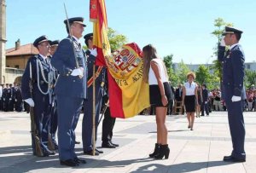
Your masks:
{"label": "officer in dark blue uniform saluting, facing left", "polygon": [[[245,55],[239,44],[241,31],[233,27],[225,27],[224,38],[218,47],[218,61],[223,66],[224,101],[228,108],[230,134],[233,151],[224,156],[224,161],[245,162],[244,150],[245,125],[242,115],[241,95],[243,92]],[[225,54],[225,45],[230,49]]]}

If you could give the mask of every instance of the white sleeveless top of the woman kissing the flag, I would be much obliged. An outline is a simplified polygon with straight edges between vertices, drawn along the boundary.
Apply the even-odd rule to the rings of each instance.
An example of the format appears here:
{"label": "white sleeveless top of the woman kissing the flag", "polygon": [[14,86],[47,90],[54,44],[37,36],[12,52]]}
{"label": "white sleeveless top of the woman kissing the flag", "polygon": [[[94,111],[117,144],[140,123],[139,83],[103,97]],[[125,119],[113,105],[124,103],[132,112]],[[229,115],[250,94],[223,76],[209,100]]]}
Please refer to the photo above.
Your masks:
{"label": "white sleeveless top of the woman kissing the flag", "polygon": [[[165,71],[163,61],[160,60],[159,58],[155,58],[152,61],[155,61],[160,67],[160,77],[162,79],[162,82],[163,83],[168,82],[168,77],[166,76],[166,71]],[[158,84],[157,80],[155,78],[155,75],[154,75],[154,71],[151,68],[151,65],[150,65],[149,72],[148,72],[148,84],[149,85]]]}

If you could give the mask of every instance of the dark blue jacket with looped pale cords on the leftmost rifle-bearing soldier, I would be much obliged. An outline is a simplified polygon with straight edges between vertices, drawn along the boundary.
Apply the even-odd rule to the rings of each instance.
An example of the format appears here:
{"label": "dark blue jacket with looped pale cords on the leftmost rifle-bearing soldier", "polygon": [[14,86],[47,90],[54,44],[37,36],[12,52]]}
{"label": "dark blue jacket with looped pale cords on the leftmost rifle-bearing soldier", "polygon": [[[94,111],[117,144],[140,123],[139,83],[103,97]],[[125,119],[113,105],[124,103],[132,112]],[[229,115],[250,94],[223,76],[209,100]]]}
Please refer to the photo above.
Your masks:
{"label": "dark blue jacket with looped pale cords on the leftmost rifle-bearing soldier", "polygon": [[28,98],[32,98],[32,95],[30,94],[30,64],[31,64],[31,70],[32,70],[32,93],[40,93],[41,91],[38,89],[38,83],[40,88],[43,92],[46,92],[48,90],[48,84],[44,82],[44,78],[41,74],[41,70],[39,67],[39,80],[37,77],[37,60],[41,61],[42,67],[44,69],[44,77],[47,81],[49,81],[48,73],[53,71],[53,68],[50,64],[47,64],[44,61],[44,58],[40,55],[34,55],[32,56],[26,63],[26,69],[23,73],[23,76],[21,78],[21,95],[23,100],[26,100]]}

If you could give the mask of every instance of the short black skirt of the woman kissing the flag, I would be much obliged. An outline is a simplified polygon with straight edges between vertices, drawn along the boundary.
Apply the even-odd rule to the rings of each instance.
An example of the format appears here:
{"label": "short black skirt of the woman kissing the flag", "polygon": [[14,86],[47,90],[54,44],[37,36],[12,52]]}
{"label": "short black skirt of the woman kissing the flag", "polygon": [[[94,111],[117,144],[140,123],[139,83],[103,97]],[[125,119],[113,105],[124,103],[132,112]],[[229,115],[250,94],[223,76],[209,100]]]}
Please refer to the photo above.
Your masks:
{"label": "short black skirt of the woman kissing the flag", "polygon": [[[169,107],[172,103],[172,89],[168,82],[164,83],[165,94],[167,97],[167,105]],[[161,94],[158,84],[149,85],[149,97],[150,97],[150,105],[154,107],[164,107],[161,100]]]}

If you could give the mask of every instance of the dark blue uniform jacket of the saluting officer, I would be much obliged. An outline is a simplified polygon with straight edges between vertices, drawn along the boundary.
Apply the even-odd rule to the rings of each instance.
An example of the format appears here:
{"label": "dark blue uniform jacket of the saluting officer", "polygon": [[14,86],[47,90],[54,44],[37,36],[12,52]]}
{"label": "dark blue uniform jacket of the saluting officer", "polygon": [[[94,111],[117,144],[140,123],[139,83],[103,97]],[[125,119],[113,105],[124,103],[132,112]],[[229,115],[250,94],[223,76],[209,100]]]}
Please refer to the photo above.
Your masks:
{"label": "dark blue uniform jacket of the saluting officer", "polygon": [[241,96],[243,91],[244,61],[245,55],[238,44],[228,50],[225,54],[225,47],[218,47],[218,61],[223,66],[223,85],[233,88],[233,95]]}

